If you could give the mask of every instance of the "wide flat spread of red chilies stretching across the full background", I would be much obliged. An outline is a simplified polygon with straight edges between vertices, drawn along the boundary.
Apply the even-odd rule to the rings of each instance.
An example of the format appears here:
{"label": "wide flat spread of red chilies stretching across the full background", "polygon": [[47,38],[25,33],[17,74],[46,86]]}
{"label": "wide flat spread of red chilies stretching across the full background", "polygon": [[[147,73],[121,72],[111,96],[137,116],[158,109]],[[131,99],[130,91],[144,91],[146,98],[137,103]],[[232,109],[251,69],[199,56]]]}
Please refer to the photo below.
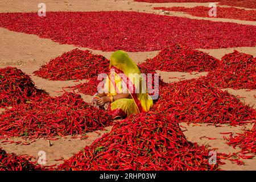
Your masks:
{"label": "wide flat spread of red chilies stretching across the full background", "polygon": [[101,51],[156,51],[173,43],[205,49],[256,46],[252,25],[131,11],[0,13],[0,27]]}

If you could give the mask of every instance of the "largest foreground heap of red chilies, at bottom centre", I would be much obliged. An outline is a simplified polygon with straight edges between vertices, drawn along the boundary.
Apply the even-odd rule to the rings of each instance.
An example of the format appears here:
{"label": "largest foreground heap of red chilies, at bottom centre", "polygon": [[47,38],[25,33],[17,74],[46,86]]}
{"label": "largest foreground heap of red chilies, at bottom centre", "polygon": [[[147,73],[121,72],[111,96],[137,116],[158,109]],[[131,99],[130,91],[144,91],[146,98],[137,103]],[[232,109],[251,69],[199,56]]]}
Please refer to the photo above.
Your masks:
{"label": "largest foreground heap of red chilies, at bottom centre", "polygon": [[217,170],[209,151],[188,142],[176,121],[149,111],[134,114],[86,146],[58,170]]}

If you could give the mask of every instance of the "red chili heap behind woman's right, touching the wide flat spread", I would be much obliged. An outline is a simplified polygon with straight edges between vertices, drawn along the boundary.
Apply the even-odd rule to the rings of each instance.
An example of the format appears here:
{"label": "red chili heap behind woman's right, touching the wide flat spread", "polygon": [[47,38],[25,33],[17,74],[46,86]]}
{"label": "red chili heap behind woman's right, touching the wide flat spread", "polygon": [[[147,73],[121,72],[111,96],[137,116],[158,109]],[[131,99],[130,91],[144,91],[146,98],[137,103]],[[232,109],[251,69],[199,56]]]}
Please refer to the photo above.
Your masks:
{"label": "red chili heap behind woman's right, touching the wide flat spread", "polygon": [[174,44],[142,63],[144,67],[168,72],[207,72],[218,66],[219,60],[181,44]]}

